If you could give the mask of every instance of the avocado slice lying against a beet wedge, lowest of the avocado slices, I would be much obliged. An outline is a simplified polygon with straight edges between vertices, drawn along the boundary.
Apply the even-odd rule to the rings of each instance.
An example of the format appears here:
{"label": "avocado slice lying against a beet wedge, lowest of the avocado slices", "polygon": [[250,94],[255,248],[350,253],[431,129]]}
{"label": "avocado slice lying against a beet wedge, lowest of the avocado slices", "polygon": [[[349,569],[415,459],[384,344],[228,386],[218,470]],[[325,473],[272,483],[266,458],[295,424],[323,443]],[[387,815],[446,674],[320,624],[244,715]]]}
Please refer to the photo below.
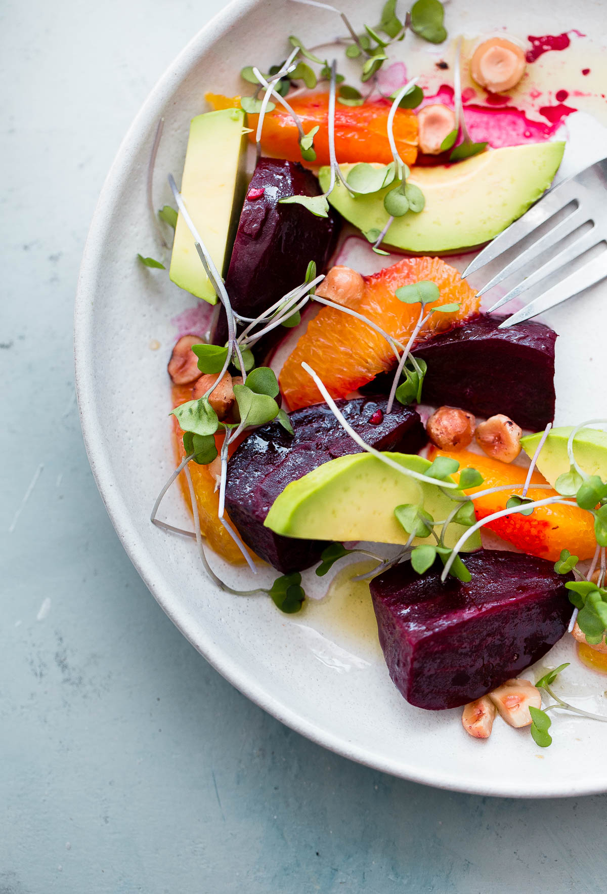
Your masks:
{"label": "avocado slice lying against a beet wedge, lowest of the avocado slices", "polygon": [[[384,454],[404,468],[426,474],[431,463],[410,453]],[[451,478],[446,480],[451,481]],[[461,491],[453,491],[461,497]],[[403,503],[422,505],[436,521],[446,519],[455,503],[436,485],[400,475],[371,453],[355,453],[308,472],[287,485],[274,500],[264,525],[288,537],[318,540],[370,540],[382,544],[406,544],[409,535],[394,510]],[[435,527],[440,536],[442,525]],[[445,545],[453,546],[466,527],[451,524]],[[434,544],[434,537],[414,544]],[[480,548],[478,533],[471,536],[466,552]]]}

